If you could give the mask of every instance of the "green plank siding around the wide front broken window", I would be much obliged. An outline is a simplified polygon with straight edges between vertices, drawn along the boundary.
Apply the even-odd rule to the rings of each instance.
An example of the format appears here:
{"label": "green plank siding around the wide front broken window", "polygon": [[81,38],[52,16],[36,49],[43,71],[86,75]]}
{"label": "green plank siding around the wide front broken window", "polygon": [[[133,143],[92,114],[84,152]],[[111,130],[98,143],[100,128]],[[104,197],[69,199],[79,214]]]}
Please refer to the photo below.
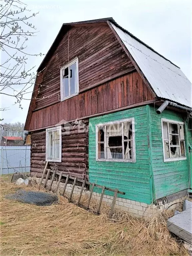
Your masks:
{"label": "green plank siding around the wide front broken window", "polygon": [[[135,118],[136,162],[96,161],[95,125]],[[89,119],[89,180],[102,186],[118,188],[121,196],[152,203],[152,178],[149,165],[147,106],[128,109]],[[107,192],[106,192],[107,193]]]}

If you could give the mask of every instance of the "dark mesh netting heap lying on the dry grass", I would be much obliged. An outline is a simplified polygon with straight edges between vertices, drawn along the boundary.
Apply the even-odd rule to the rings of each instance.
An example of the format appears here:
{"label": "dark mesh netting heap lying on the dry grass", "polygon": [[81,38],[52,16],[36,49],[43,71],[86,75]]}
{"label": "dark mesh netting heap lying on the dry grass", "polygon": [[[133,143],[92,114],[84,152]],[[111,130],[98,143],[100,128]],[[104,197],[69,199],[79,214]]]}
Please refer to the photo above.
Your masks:
{"label": "dark mesh netting heap lying on the dry grass", "polygon": [[58,203],[58,197],[46,192],[18,190],[14,194],[5,195],[5,198],[22,203],[49,206]]}

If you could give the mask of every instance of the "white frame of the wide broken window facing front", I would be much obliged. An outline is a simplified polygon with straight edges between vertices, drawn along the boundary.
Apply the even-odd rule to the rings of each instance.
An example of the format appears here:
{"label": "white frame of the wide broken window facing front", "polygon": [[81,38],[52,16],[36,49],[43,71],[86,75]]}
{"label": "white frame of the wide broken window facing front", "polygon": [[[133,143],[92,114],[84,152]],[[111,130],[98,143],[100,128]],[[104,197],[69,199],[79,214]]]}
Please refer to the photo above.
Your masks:
{"label": "white frame of the wide broken window facing front", "polygon": [[[98,129],[100,126],[110,125],[110,124],[119,124],[124,122],[132,122],[132,141],[133,141],[133,159],[106,159],[106,158],[98,158]],[[114,122],[105,122],[95,125],[96,131],[96,161],[100,162],[136,162],[136,149],[135,149],[135,118],[122,119]],[[122,147],[123,147],[123,134],[122,134]],[[106,152],[106,128],[104,131],[104,151]],[[106,153],[105,153],[106,155]]]}

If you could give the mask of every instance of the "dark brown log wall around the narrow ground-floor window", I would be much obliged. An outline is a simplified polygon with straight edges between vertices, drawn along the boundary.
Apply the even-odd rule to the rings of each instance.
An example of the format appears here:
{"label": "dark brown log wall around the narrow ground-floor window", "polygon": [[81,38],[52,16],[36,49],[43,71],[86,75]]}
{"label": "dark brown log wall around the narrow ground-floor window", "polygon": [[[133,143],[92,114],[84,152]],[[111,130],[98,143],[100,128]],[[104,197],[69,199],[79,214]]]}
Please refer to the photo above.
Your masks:
{"label": "dark brown log wall around the narrow ground-floor window", "polygon": [[[62,162],[49,163],[48,168],[58,168],[64,174],[88,179],[88,120],[82,124],[62,127]],[[70,133],[70,134],[69,134]],[[46,131],[31,133],[31,175],[41,177],[45,163]]]}

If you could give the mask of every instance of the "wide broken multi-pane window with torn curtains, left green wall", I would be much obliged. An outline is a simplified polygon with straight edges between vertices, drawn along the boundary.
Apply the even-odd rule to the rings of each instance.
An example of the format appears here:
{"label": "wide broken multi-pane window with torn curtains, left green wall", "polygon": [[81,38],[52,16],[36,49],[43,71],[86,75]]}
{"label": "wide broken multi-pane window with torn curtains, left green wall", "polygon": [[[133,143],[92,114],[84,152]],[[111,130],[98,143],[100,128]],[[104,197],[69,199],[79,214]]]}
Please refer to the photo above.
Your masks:
{"label": "wide broken multi-pane window with torn curtains, left green wall", "polygon": [[132,122],[98,126],[98,159],[135,160]]}

